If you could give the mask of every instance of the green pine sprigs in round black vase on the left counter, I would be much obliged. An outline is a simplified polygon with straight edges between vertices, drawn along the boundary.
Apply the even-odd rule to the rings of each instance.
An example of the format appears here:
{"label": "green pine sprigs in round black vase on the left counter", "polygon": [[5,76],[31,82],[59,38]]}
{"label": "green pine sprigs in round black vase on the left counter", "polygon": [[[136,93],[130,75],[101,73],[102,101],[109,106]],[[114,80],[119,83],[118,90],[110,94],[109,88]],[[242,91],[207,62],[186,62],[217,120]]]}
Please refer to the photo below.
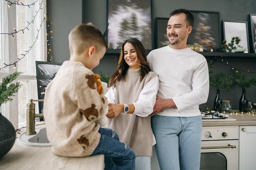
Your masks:
{"label": "green pine sprigs in round black vase on the left counter", "polygon": [[[0,84],[0,105],[12,101],[12,96],[18,92],[20,82],[12,83],[20,72],[14,72],[2,79]],[[0,113],[0,157],[9,152],[16,139],[16,132],[12,123]]]}

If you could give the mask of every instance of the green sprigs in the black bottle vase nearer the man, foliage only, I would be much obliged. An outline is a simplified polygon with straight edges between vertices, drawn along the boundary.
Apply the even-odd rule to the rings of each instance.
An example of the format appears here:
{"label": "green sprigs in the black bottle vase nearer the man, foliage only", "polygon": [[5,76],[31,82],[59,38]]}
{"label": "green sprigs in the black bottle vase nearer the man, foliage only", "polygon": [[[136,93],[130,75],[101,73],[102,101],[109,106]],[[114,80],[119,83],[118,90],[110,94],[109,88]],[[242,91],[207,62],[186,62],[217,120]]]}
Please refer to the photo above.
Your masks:
{"label": "green sprigs in the black bottle vase nearer the man, foliage only", "polygon": [[226,74],[219,73],[217,75],[214,75],[213,72],[210,71],[209,79],[210,85],[220,90],[229,91],[230,86],[233,85],[233,73],[231,71]]}

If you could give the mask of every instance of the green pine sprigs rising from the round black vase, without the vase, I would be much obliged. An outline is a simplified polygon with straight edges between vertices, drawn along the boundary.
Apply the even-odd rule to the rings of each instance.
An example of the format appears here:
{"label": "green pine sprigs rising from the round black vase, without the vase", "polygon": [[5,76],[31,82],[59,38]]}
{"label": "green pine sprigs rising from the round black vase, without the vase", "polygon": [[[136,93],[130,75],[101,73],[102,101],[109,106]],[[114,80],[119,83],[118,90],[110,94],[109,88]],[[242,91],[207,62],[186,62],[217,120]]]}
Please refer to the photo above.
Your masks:
{"label": "green pine sprigs rising from the round black vase, without the vase", "polygon": [[0,105],[4,102],[12,101],[11,96],[15,96],[14,94],[18,92],[21,84],[20,82],[15,84],[10,84],[14,81],[21,72],[14,72],[2,79],[2,83],[0,84]]}

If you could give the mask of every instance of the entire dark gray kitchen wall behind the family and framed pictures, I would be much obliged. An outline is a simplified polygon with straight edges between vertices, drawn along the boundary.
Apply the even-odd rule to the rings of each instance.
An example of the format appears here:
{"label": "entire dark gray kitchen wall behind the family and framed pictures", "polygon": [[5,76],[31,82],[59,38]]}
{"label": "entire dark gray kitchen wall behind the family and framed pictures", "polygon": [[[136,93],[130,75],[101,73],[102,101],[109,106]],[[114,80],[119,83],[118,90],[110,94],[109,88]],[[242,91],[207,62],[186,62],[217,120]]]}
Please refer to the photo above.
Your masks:
{"label": "entire dark gray kitchen wall behind the family and framed pictures", "polygon": [[[52,0],[50,1],[54,21],[54,41],[53,54],[55,62],[63,62],[69,59],[68,39],[70,30],[77,24],[82,22],[93,22],[103,33],[106,29],[107,19],[107,0]],[[83,11],[82,11],[83,6]],[[155,35],[155,18],[169,17],[169,13],[176,8],[186,8],[188,10],[199,11],[217,11],[220,14],[220,21],[248,21],[250,13],[256,13],[256,0],[152,0],[153,13],[153,34]],[[248,22],[249,24],[249,22]],[[141,28],[143,29],[143,28]],[[249,27],[249,32],[251,28]],[[222,31],[222,30],[221,30]],[[155,35],[156,36],[156,35]],[[156,37],[154,36],[154,39]],[[251,37],[250,37],[251,38]],[[251,43],[251,41],[250,41]],[[111,75],[117,66],[117,55],[105,55],[99,66],[94,72]],[[209,61],[209,59],[208,59]],[[225,59],[230,66],[256,72],[256,58],[229,58]],[[230,68],[216,62],[214,64],[214,72],[227,72]],[[252,74],[247,74],[251,76]],[[249,101],[256,102],[256,86],[252,86],[246,90]],[[210,87],[208,101],[200,107],[213,107],[213,101],[216,96],[216,88]],[[234,109],[238,108],[238,100],[241,96],[241,89],[237,85],[232,86],[229,92],[221,91],[223,100],[230,100]]]}

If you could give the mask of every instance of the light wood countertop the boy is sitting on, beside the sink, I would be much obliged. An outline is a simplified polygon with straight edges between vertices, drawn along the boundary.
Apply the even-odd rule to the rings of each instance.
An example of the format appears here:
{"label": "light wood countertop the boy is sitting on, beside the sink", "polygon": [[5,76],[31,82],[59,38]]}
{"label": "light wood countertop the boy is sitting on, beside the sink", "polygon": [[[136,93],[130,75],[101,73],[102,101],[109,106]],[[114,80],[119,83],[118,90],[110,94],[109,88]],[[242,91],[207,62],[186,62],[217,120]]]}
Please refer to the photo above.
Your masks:
{"label": "light wood countertop the boy is sitting on, beside the sink", "polygon": [[12,149],[0,158],[0,170],[103,170],[104,167],[103,154],[63,157],[53,154],[51,147],[29,147],[17,140]]}

